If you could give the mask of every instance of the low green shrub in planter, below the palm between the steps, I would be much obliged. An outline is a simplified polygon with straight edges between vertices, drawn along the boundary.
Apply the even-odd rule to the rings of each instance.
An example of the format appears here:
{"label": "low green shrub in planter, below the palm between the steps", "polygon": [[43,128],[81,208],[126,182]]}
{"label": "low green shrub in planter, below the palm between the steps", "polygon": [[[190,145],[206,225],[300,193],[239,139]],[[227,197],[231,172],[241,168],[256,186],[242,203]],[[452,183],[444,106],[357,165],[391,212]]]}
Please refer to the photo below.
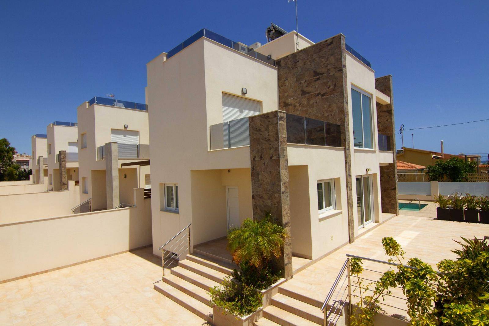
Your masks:
{"label": "low green shrub in planter, below the palm between the steps", "polygon": [[257,311],[263,304],[263,294],[252,286],[237,284],[226,277],[221,285],[209,290],[210,303],[226,312],[244,317]]}

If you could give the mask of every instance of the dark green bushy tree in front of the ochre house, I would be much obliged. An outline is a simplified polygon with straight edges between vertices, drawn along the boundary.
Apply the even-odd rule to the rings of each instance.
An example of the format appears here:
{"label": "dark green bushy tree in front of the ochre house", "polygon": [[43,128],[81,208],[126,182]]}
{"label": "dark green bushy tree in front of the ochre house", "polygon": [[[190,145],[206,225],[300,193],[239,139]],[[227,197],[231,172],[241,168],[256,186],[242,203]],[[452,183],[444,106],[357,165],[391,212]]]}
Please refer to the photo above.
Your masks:
{"label": "dark green bushy tree in front of the ochre house", "polygon": [[431,181],[443,181],[446,176],[451,182],[464,182],[467,173],[476,172],[476,168],[476,162],[466,162],[454,156],[449,160],[439,160],[435,165],[428,166],[426,174]]}

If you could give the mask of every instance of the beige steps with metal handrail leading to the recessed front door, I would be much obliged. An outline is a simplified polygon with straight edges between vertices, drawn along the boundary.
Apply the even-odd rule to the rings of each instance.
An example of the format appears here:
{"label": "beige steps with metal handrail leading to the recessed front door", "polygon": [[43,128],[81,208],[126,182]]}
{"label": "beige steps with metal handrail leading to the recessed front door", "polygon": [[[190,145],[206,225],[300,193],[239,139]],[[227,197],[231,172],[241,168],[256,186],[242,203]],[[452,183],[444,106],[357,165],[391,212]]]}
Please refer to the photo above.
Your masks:
{"label": "beige steps with metal handrail leading to the recessed front door", "polygon": [[155,283],[156,291],[213,324],[210,296],[211,287],[221,284],[224,277],[233,272],[236,265],[220,257],[194,251],[178,266],[165,269],[165,276]]}

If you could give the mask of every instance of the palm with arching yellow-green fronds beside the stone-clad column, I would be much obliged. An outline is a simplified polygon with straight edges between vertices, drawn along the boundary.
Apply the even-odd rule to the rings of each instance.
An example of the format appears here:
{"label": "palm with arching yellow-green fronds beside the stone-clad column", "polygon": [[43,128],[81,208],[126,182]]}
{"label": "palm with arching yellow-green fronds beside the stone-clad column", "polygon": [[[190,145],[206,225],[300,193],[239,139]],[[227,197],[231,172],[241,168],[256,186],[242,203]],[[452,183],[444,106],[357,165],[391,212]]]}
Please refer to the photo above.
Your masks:
{"label": "palm with arching yellow-green fronds beside the stone-clad column", "polygon": [[233,261],[248,262],[250,266],[262,269],[272,257],[282,256],[282,248],[289,237],[287,231],[272,222],[270,213],[260,221],[245,219],[240,228],[231,229],[227,235],[227,249]]}

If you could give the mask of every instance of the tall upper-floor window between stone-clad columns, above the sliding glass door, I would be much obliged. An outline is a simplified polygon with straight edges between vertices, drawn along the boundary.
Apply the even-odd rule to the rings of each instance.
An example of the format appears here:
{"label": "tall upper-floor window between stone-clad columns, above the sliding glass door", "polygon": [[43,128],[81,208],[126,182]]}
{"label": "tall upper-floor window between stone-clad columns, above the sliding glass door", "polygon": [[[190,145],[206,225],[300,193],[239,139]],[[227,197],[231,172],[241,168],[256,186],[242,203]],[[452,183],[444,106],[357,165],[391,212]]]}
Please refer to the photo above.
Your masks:
{"label": "tall upper-floor window between stone-clad columns, above the sliding glass door", "polygon": [[353,89],[353,141],[355,147],[374,148],[372,136],[372,98],[367,93]]}

